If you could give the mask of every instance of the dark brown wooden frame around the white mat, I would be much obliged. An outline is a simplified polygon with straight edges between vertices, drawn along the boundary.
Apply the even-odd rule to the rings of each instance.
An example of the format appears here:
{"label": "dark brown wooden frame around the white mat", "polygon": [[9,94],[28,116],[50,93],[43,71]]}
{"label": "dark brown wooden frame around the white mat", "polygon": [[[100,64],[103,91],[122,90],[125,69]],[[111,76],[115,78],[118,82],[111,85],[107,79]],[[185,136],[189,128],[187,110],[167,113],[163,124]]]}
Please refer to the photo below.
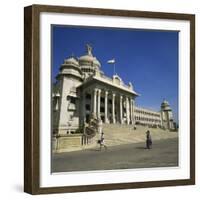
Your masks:
{"label": "dark brown wooden frame around the white mat", "polygon": [[[190,23],[190,178],[100,185],[40,187],[40,13],[187,20]],[[32,5],[24,9],[24,191],[30,194],[83,192],[195,184],[195,16],[80,7]]]}

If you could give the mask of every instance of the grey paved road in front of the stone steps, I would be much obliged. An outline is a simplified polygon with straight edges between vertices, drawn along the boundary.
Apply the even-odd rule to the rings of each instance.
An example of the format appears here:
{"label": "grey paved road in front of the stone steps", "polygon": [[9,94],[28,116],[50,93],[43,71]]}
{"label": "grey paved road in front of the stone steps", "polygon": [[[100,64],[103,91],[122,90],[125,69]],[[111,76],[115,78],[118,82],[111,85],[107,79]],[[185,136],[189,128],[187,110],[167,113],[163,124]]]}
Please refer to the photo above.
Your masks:
{"label": "grey paved road in front of the stone steps", "polygon": [[158,140],[151,150],[144,143],[54,154],[52,172],[166,167],[178,165],[178,138]]}

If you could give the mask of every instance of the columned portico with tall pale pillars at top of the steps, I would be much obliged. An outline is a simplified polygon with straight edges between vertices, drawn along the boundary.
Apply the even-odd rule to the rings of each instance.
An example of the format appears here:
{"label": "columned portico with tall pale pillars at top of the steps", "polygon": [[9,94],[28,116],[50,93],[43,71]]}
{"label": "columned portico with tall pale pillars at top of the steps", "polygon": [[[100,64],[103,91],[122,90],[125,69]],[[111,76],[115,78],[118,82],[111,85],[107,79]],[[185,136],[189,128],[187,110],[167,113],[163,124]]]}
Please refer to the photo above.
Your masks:
{"label": "columned portico with tall pale pillars at top of the steps", "polygon": [[134,101],[137,94],[133,90],[124,86],[115,87],[113,83],[105,85],[101,81],[97,82],[95,77],[81,87],[82,121],[88,123],[93,115],[103,123],[134,124]]}

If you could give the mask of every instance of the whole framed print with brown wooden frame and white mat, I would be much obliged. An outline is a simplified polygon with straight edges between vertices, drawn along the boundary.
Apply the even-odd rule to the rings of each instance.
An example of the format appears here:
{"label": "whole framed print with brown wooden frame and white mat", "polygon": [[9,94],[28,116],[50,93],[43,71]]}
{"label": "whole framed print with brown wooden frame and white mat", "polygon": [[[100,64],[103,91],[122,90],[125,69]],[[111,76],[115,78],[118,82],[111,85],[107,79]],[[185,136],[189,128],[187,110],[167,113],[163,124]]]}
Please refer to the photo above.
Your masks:
{"label": "whole framed print with brown wooden frame and white mat", "polygon": [[24,191],[195,184],[195,16],[24,9]]}

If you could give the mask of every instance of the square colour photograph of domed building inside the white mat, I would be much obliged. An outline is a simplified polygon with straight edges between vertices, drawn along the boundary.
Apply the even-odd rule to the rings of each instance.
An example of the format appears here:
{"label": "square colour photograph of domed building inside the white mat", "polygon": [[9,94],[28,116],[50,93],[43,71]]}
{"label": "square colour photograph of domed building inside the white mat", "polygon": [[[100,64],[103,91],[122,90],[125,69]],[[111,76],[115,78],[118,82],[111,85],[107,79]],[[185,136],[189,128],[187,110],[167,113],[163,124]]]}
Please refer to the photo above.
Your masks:
{"label": "square colour photograph of domed building inside the white mat", "polygon": [[51,25],[51,172],[179,166],[179,31]]}

